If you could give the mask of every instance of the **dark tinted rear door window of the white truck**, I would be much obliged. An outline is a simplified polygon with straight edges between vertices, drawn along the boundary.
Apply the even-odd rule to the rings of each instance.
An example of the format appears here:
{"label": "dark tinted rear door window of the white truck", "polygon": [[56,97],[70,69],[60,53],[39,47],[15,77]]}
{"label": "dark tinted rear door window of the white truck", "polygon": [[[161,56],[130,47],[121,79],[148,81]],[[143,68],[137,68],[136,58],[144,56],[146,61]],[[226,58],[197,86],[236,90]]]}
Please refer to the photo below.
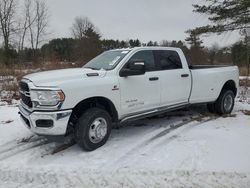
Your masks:
{"label": "dark tinted rear door window of the white truck", "polygon": [[155,56],[161,70],[181,69],[182,63],[177,52],[171,50],[156,50]]}

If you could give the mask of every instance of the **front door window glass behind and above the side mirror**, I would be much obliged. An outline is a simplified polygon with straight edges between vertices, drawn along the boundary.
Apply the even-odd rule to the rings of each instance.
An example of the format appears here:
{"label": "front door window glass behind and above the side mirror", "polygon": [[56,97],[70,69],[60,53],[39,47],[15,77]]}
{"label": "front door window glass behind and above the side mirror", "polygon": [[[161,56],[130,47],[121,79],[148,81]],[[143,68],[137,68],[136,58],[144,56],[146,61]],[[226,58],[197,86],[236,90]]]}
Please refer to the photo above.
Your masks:
{"label": "front door window glass behind and above the side mirror", "polygon": [[155,70],[154,54],[151,50],[144,50],[135,53],[129,60],[129,62],[134,60],[144,60],[146,71]]}

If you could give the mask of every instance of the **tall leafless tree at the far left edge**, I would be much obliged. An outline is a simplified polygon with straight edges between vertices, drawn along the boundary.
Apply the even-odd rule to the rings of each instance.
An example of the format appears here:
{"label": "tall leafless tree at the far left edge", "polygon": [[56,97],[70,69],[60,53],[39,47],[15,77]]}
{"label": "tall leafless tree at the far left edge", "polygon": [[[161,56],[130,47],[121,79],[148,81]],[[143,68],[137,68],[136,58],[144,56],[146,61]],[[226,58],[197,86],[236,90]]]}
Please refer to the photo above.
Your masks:
{"label": "tall leafless tree at the far left edge", "polygon": [[16,0],[0,0],[0,30],[4,40],[4,49],[10,48],[10,36],[15,32],[14,17]]}

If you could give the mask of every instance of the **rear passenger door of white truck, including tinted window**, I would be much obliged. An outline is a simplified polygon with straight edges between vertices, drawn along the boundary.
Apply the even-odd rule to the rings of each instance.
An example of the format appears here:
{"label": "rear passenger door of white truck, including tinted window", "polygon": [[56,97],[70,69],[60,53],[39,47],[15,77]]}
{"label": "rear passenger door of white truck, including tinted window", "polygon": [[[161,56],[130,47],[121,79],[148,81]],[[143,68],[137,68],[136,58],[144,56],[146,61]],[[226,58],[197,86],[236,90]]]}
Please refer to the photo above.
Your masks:
{"label": "rear passenger door of white truck, including tinted window", "polygon": [[191,73],[183,68],[179,54],[174,50],[154,51],[159,68],[161,106],[188,103],[191,90]]}

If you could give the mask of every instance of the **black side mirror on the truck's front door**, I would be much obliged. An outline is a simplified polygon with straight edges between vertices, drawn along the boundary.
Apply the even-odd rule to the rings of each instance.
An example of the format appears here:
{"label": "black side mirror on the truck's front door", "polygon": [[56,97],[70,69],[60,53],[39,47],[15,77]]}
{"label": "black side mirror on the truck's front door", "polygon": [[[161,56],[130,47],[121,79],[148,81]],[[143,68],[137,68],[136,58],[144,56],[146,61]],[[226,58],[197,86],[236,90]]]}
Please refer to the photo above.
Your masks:
{"label": "black side mirror on the truck's front door", "polygon": [[123,67],[120,71],[121,77],[136,76],[145,74],[145,61],[134,60],[128,64],[128,67]]}

